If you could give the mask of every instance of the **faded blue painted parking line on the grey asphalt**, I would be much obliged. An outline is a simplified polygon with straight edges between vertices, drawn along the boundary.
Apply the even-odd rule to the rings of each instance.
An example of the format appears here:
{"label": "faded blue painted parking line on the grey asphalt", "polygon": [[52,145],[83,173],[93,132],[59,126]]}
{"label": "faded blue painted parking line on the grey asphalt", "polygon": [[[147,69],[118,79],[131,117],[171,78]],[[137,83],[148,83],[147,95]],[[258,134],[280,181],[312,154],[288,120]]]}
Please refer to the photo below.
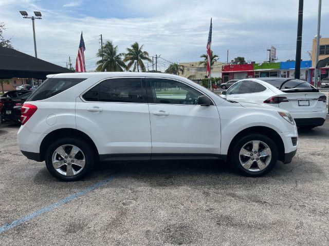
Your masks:
{"label": "faded blue painted parking line on the grey asphalt", "polygon": [[40,209],[38,211],[35,211],[32,214],[23,216],[23,217],[21,217],[19,219],[16,219],[16,220],[14,220],[14,221],[12,221],[12,222],[10,222],[8,224],[5,224],[5,226],[0,227],[0,234],[3,233],[3,232],[5,232],[5,231],[7,231],[7,230],[9,230],[9,229],[11,229],[11,228],[13,228],[13,227],[19,226],[19,224],[21,224],[21,223],[24,223],[26,221],[29,221],[31,219],[34,219],[35,217],[38,217],[38,216],[44,214],[46,212],[49,212],[49,211],[51,211],[53,209],[56,209],[56,208],[62,206],[63,204],[68,203],[69,201],[78,198],[79,196],[83,196],[86,193],[88,193],[89,191],[93,191],[93,190],[95,190],[98,187],[104,186],[104,185],[106,185],[107,182],[112,181],[113,178],[114,178],[114,176],[111,176],[111,177],[109,177],[109,178],[107,178],[107,179],[105,179],[103,181],[100,181],[100,182],[95,183],[95,185],[93,185],[93,186],[90,186],[90,187],[88,187],[88,188],[86,188],[86,189],[84,189],[82,191],[79,191],[79,192],[73,194],[73,195],[70,195],[68,197],[65,197],[62,200],[59,200],[59,201],[57,201],[55,203],[52,203],[48,207],[42,208],[42,209]]}

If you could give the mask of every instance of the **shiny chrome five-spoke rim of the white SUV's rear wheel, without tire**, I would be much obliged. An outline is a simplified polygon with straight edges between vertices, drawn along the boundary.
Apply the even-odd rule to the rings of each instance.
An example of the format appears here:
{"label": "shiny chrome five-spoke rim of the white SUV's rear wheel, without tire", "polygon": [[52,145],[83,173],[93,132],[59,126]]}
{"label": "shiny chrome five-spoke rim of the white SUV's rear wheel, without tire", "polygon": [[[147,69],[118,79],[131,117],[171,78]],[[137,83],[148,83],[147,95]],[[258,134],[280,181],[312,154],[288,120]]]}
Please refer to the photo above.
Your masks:
{"label": "shiny chrome five-spoke rim of the white SUV's rear wheel, without tire", "polygon": [[84,153],[75,145],[62,145],[52,154],[53,168],[64,176],[74,176],[80,173],[86,163]]}

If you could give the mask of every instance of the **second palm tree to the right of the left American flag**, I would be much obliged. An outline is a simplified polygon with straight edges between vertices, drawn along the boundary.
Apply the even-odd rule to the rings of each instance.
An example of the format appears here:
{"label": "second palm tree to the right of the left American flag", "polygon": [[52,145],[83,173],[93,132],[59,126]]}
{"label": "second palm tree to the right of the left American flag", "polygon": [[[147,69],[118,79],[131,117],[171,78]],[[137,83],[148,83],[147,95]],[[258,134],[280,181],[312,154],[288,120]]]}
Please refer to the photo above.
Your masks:
{"label": "second palm tree to the right of the left American flag", "polygon": [[133,72],[136,71],[136,68],[137,68],[137,72],[139,72],[139,68],[141,68],[142,72],[146,72],[145,65],[143,64],[143,60],[147,60],[147,61],[152,61],[152,60],[149,58],[148,52],[142,51],[143,46],[144,45],[139,47],[139,44],[135,42],[134,44],[131,45],[131,48],[127,48],[128,53],[125,54],[123,59],[124,62],[129,61],[129,63],[126,66],[127,70],[129,70],[134,64]]}

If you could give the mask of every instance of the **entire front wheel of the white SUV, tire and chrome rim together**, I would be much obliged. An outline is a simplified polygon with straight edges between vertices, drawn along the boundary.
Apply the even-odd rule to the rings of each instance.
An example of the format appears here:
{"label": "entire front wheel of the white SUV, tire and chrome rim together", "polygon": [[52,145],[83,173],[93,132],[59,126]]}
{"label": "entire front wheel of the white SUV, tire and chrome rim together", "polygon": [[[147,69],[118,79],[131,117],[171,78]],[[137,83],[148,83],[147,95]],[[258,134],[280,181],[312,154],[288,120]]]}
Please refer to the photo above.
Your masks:
{"label": "entire front wheel of the white SUV, tire and chrome rim together", "polygon": [[251,134],[235,142],[230,157],[233,167],[242,175],[259,177],[275,166],[278,148],[269,137]]}

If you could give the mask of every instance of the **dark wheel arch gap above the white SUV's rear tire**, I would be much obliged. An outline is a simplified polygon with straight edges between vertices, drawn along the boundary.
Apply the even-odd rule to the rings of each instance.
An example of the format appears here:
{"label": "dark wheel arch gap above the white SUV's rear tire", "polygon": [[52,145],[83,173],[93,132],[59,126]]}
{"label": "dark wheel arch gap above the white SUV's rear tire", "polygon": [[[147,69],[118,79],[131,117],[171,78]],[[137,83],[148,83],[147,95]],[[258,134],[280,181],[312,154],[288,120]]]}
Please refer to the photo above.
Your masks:
{"label": "dark wheel arch gap above the white SUV's rear tire", "polygon": [[49,146],[49,144],[53,141],[56,141],[56,140],[58,140],[60,138],[64,138],[64,137],[83,138],[84,140],[89,142],[90,146],[92,146],[97,158],[99,157],[99,153],[98,153],[97,147],[95,145],[95,142],[87,134],[85,134],[84,132],[79,131],[77,129],[74,129],[74,128],[60,128],[60,129],[54,130],[52,132],[49,132],[42,140],[41,145],[40,145],[41,161],[45,160],[45,155],[46,155],[47,147]]}

